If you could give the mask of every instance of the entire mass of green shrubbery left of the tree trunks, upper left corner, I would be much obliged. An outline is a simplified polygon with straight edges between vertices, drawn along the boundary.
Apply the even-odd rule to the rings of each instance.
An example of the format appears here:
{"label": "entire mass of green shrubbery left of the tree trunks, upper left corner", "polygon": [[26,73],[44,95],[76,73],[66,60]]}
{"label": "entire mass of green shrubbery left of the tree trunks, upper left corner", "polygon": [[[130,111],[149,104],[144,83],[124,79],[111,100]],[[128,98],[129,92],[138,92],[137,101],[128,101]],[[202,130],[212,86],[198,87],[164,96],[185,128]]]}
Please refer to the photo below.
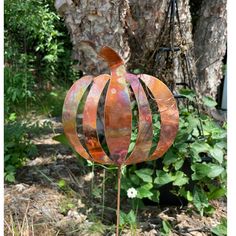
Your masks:
{"label": "entire mass of green shrubbery left of the tree trunks, upper left corner", "polygon": [[77,79],[70,38],[53,1],[5,1],[4,29],[6,116],[20,107],[44,105],[38,102],[47,97],[41,99],[37,94],[48,83],[64,86]]}

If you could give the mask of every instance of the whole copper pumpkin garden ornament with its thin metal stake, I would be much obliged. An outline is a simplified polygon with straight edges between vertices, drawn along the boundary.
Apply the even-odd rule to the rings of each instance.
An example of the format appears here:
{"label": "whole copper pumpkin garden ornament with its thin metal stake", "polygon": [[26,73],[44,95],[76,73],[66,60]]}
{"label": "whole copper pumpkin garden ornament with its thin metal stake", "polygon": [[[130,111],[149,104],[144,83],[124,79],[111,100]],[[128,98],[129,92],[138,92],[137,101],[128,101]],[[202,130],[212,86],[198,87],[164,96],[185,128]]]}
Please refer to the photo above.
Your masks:
{"label": "whole copper pumpkin garden ornament with its thin metal stake", "polygon": [[[126,72],[124,61],[112,49],[104,46],[101,56],[109,65],[111,74],[97,77],[84,76],[68,91],[63,106],[65,135],[76,152],[83,158],[100,164],[118,167],[117,229],[119,235],[120,179],[123,165],[155,160],[173,144],[179,114],[175,99],[167,86],[157,78]],[[104,88],[107,87],[104,105],[104,133],[109,155],[99,141],[97,113]],[[132,134],[132,109],[130,88],[138,106],[138,134],[135,146],[128,154]],[[77,133],[77,111],[81,99],[89,89],[82,113],[83,142]],[[146,95],[149,91],[155,100],[161,121],[160,137],[156,149],[150,153],[153,144],[152,111]]]}

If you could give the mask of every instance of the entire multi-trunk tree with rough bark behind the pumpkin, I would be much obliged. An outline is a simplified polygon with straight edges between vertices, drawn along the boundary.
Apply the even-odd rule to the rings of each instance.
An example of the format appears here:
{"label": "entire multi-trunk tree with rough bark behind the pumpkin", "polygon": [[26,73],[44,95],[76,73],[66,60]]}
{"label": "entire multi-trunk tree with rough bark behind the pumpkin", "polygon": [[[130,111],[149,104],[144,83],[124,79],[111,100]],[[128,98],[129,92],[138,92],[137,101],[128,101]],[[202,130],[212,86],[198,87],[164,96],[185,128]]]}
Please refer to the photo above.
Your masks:
{"label": "entire multi-trunk tree with rough bark behind the pumpkin", "polygon": [[196,50],[189,0],[56,0],[55,7],[65,19],[74,58],[84,73],[108,72],[96,53],[107,45],[123,57],[128,70],[157,76],[172,90],[177,82],[193,87],[199,78],[200,92],[215,95],[225,52],[225,1],[203,0],[194,34]]}

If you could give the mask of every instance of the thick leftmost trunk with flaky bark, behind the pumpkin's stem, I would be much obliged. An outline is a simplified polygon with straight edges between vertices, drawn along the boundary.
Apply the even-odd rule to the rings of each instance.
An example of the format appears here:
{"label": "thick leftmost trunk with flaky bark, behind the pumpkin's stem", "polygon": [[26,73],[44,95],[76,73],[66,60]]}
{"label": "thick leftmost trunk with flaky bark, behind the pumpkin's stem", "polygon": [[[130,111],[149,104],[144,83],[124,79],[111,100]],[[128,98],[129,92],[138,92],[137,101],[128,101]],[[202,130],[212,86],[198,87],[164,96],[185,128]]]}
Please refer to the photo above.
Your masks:
{"label": "thick leftmost trunk with flaky bark, behind the pumpkin's stem", "polygon": [[127,61],[130,57],[125,32],[128,0],[56,0],[55,7],[64,17],[73,43],[73,58],[84,73],[98,75],[107,72],[107,65],[97,57],[97,49],[113,47]]}

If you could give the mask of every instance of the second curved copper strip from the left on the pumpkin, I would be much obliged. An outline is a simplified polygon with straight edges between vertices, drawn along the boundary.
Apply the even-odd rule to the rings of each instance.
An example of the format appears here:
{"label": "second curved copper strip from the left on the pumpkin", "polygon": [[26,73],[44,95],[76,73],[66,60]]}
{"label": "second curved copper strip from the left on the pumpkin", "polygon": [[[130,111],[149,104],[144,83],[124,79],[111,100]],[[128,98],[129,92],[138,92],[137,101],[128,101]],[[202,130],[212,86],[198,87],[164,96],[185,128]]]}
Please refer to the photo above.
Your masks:
{"label": "second curved copper strip from the left on the pumpkin", "polygon": [[98,103],[110,77],[110,75],[100,75],[94,78],[94,83],[87,96],[83,112],[83,131],[86,146],[93,160],[102,164],[113,163],[102,149],[97,133]]}

